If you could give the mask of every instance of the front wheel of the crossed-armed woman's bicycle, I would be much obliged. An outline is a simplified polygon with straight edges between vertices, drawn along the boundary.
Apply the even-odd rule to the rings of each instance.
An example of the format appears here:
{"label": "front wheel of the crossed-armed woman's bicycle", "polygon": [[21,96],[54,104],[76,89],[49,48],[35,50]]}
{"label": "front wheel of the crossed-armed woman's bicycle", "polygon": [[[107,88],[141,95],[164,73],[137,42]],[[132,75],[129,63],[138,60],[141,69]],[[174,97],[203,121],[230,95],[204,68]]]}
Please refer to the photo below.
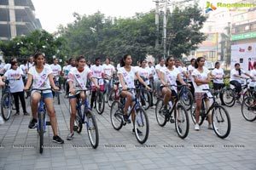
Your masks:
{"label": "front wheel of the crossed-armed woman's bicycle", "polygon": [[231,129],[230,115],[223,106],[218,105],[212,111],[212,127],[217,136],[224,139],[229,136]]}

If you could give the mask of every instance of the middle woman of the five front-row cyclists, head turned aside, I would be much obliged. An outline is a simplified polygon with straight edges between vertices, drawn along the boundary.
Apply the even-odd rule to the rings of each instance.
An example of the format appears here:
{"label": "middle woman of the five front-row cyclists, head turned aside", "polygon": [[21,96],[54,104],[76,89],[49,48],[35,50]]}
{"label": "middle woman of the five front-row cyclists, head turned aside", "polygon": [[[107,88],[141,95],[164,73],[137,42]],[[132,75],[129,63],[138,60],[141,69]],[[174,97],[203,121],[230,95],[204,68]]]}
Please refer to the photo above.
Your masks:
{"label": "middle woman of the five front-row cyclists, head turned aside", "polygon": [[[135,77],[137,77],[137,80],[141,82],[146,88],[151,90],[151,88],[148,87],[147,83],[145,83],[138,75],[138,71],[134,66],[131,66],[132,59],[131,54],[125,54],[123,59],[120,60],[120,68],[118,70],[118,76],[119,76],[119,94],[121,94],[122,97],[126,98],[125,101],[125,108],[124,108],[124,121],[131,123],[131,120],[134,122],[135,119],[135,112],[133,111],[131,113],[131,120],[129,119],[129,116],[127,115],[129,106],[133,106],[134,102],[133,99],[135,99],[135,94],[133,91],[128,91],[127,88],[135,88],[134,80]],[[134,132],[134,129],[133,129]]]}

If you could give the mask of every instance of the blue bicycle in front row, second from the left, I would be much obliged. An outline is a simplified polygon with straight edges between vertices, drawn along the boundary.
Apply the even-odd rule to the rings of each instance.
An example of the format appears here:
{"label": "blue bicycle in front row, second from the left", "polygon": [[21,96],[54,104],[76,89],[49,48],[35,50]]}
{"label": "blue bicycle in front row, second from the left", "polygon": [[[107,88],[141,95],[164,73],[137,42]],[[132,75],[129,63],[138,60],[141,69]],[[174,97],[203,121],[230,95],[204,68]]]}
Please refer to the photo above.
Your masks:
{"label": "blue bicycle in front row, second from the left", "polygon": [[[90,90],[91,89],[89,88],[86,90],[77,90],[76,92],[84,91],[84,94],[86,94],[86,91]],[[84,109],[82,108],[83,106]],[[81,133],[83,124],[86,125],[91,146],[96,149],[99,144],[99,132],[96,124],[96,117],[89,107],[88,100],[85,99],[82,103],[82,100],[77,97],[77,115],[75,116],[73,131]]]}

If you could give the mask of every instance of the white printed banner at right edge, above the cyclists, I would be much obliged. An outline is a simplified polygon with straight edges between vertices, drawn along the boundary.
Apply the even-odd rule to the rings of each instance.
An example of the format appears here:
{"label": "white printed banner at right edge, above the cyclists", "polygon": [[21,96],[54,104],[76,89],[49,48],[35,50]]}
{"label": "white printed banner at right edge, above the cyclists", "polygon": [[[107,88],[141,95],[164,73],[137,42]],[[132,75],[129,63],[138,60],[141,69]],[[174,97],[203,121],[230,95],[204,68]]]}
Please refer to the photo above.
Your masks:
{"label": "white printed banner at right edge, above the cyclists", "polygon": [[256,43],[245,43],[231,46],[231,70],[239,63],[242,70],[249,72],[256,65]]}

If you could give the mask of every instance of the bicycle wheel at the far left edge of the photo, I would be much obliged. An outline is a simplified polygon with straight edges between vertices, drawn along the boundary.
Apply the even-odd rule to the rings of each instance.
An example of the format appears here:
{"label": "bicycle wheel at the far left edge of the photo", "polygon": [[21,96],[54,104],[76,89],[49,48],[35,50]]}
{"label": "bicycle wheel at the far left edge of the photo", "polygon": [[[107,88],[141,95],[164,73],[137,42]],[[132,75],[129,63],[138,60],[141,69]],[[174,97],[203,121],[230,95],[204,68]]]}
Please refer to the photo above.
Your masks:
{"label": "bicycle wheel at the far left edge of the photo", "polygon": [[9,94],[3,94],[1,99],[1,113],[4,121],[8,121],[12,113],[11,97]]}

